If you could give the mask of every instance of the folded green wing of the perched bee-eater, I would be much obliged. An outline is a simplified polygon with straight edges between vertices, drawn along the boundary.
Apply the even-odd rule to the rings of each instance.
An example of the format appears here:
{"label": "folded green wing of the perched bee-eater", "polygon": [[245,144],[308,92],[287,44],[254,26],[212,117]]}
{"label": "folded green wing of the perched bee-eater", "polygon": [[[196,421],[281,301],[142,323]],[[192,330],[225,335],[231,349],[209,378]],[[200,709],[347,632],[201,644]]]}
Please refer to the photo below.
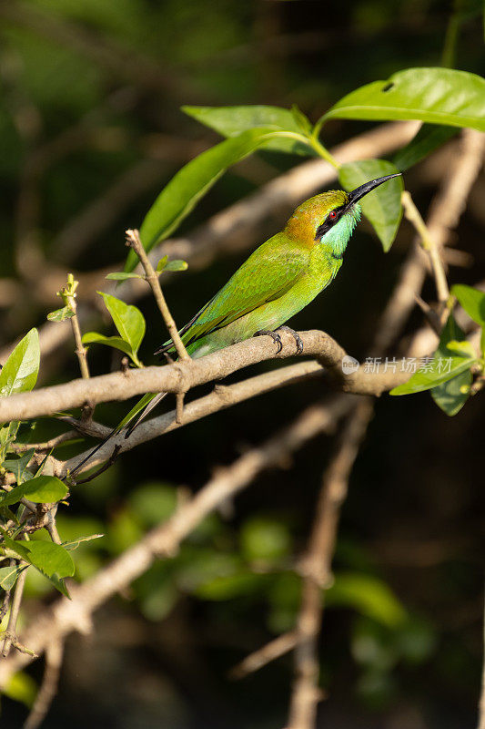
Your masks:
{"label": "folded green wing of the perched bee-eater", "polygon": [[[184,344],[216,332],[288,291],[308,269],[309,251],[278,233],[249,256],[225,286],[181,329]],[[171,349],[167,342],[159,351]]]}

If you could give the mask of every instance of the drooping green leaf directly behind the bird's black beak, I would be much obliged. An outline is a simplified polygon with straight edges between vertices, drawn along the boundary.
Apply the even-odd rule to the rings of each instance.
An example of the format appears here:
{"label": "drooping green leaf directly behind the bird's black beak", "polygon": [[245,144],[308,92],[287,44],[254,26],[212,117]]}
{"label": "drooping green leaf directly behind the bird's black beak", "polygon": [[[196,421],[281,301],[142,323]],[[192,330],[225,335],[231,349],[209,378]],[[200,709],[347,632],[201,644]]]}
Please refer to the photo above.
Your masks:
{"label": "drooping green leaf directly behind the bird's black beak", "polygon": [[[338,170],[338,179],[346,190],[354,190],[364,182],[396,172],[399,169],[385,159],[362,159],[342,165]],[[362,211],[377,232],[384,251],[389,251],[399,228],[402,190],[402,179],[398,177],[380,185],[360,200]]]}

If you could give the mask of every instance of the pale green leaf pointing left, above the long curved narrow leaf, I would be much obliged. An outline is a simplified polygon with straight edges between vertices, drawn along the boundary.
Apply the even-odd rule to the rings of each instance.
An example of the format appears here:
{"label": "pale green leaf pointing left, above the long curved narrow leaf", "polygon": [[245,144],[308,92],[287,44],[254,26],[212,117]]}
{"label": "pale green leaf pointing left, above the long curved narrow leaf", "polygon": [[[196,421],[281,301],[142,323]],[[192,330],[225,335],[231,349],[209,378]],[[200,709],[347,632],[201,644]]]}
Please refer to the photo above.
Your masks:
{"label": "pale green leaf pointing left, above the long curved narrow leaf", "polygon": [[[215,129],[223,137],[236,137],[243,131],[255,127],[267,127],[280,131],[291,131],[301,134],[303,119],[308,119],[302,112],[294,107],[291,110],[280,107],[266,107],[262,105],[246,107],[182,107],[189,117],[197,119],[206,127]],[[265,149],[277,152],[287,152],[308,156],[314,155],[313,150],[304,142],[297,139],[271,139],[265,144]]]}

